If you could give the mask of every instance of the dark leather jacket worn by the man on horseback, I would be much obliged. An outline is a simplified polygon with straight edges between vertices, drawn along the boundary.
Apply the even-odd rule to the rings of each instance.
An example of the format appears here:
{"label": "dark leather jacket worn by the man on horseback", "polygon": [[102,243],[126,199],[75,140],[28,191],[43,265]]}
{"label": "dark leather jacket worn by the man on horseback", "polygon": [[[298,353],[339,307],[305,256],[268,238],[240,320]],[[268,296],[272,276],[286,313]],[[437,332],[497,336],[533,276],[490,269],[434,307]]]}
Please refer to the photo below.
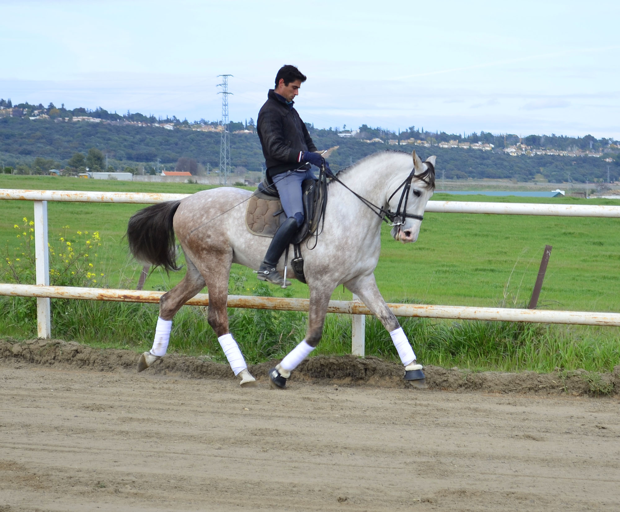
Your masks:
{"label": "dark leather jacket worn by the man on horseback", "polygon": [[[273,89],[269,90],[267,101],[260,108],[256,124],[269,177],[302,166],[299,151],[317,150],[293,104],[287,105]],[[309,164],[306,166],[310,168]]]}

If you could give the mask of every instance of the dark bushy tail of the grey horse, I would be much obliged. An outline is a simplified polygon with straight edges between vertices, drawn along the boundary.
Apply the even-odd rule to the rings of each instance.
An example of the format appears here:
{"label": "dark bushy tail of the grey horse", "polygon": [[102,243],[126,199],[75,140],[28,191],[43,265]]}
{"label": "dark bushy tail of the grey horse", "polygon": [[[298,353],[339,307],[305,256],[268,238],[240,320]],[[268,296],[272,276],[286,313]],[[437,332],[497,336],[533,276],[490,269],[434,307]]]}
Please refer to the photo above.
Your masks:
{"label": "dark bushy tail of the grey horse", "polygon": [[172,219],[180,202],[166,201],[147,206],[131,216],[127,224],[127,241],[136,260],[164,267],[166,271],[179,270]]}

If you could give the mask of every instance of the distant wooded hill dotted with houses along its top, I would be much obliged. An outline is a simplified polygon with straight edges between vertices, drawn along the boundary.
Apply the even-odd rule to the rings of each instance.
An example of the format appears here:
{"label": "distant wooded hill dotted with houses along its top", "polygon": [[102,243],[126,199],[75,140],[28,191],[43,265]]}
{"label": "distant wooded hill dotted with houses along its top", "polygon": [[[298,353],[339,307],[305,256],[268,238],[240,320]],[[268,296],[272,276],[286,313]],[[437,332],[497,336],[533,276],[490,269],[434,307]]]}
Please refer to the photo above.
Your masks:
{"label": "distant wooded hill dotted with houses along its top", "polygon": [[[0,167],[19,167],[19,172],[45,172],[56,166],[65,167],[74,154],[80,152],[86,155],[91,148],[99,149],[107,156],[108,165],[119,170],[128,167],[135,172],[144,167],[154,172],[157,159],[169,170],[176,166],[179,159],[195,159],[200,164],[198,172],[203,168],[219,166],[221,134],[213,131],[221,130],[217,122],[201,120],[189,123],[175,117],[158,120],[139,113],[121,116],[103,109],[68,111],[51,104],[53,108],[43,109],[51,112],[49,115],[37,108],[42,105],[24,105],[7,107],[7,102],[0,100]],[[9,109],[12,112],[14,108],[20,108],[21,115],[20,112],[7,115]],[[35,115],[26,115],[28,113]],[[74,117],[101,121],[69,121]],[[166,130],[162,125],[170,129]],[[244,123],[231,123],[231,131],[238,130],[230,137],[231,162],[233,167],[260,171],[264,159],[259,139],[252,133],[252,125],[250,120],[249,130],[241,131],[246,127]],[[347,167],[377,151],[392,149],[410,152],[415,149],[422,157],[436,154],[438,177],[444,175],[445,179],[471,177],[605,182],[608,172],[611,180],[620,179],[620,148],[615,141],[589,135],[583,138],[531,135],[520,139],[516,135],[484,132],[465,137],[443,132],[429,133],[416,130],[414,126],[400,134],[366,125],[345,133],[342,130],[318,130],[312,125],[308,128],[318,148],[339,146],[329,159],[334,170]],[[549,151],[564,152],[568,156],[544,154]],[[35,159],[38,159],[37,164]]]}

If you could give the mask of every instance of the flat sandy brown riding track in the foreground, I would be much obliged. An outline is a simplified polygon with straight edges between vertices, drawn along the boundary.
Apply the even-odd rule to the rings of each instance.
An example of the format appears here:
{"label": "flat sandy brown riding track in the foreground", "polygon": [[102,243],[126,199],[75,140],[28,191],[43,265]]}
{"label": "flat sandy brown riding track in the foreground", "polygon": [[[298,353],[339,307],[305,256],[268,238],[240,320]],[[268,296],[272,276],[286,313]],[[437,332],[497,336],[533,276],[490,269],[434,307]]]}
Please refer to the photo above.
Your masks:
{"label": "flat sandy brown riding track in the foreground", "polygon": [[0,512],[620,510],[618,395],[241,389],[15,351]]}

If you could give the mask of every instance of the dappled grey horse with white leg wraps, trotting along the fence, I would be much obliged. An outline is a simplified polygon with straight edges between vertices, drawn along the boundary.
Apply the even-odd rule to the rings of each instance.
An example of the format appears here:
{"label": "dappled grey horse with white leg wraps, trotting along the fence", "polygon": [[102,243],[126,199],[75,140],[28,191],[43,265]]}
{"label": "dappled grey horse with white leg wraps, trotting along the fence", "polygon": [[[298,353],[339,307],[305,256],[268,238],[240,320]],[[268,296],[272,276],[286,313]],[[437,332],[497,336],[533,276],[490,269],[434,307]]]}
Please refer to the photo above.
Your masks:
{"label": "dappled grey horse with white leg wraps, trotting along the fence", "polygon": [[[327,305],[339,285],[357,294],[390,332],[405,366],[405,379],[423,382],[422,366],[417,364],[409,340],[379,293],[374,268],[381,249],[383,218],[394,220],[396,213],[392,237],[403,243],[415,242],[434,189],[435,156],[422,162],[415,151],[413,162],[412,156],[404,152],[373,154],[343,170],[337,181],[329,183],[324,227],[316,246],[301,246],[310,295],[308,331],[304,340],[270,370],[272,387],[285,387],[291,371],[321,340]],[[183,280],[159,302],[153,348],[140,356],[138,371],[166,353],[172,317],[206,286],[208,323],[218,335],[241,386],[254,385],[255,379],[229,332],[226,311],[232,263],[257,270],[270,241],[246,229],[245,203],[251,194],[240,188],[214,188],[179,201],[148,206],[131,217],[127,238],[136,259],[177,270],[176,235],[186,261]],[[314,241],[309,244],[312,245]],[[284,271],[283,258],[277,268]],[[294,278],[290,267],[286,277]]]}

